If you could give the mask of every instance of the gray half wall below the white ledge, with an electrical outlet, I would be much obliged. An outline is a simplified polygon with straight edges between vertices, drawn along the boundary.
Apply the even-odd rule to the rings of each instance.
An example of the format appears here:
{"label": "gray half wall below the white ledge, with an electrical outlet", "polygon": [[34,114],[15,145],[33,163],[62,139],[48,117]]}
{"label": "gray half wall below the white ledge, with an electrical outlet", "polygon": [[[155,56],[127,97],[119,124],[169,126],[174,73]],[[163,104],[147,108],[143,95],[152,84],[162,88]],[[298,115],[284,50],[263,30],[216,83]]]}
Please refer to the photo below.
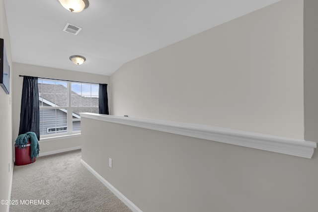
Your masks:
{"label": "gray half wall below the white ledge, with an electrical outlet", "polygon": [[317,212],[317,151],[306,159],[88,118],[81,124],[82,159],[143,212]]}

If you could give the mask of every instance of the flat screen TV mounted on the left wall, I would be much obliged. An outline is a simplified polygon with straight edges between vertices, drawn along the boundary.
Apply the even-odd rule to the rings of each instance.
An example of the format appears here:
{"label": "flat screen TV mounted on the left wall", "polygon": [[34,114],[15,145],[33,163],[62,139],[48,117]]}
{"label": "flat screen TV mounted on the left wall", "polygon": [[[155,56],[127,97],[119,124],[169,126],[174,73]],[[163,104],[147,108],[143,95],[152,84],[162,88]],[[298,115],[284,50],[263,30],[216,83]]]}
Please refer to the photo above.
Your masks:
{"label": "flat screen TV mounted on the left wall", "polygon": [[5,45],[0,38],[0,85],[6,94],[9,94],[10,88],[10,67],[6,56]]}

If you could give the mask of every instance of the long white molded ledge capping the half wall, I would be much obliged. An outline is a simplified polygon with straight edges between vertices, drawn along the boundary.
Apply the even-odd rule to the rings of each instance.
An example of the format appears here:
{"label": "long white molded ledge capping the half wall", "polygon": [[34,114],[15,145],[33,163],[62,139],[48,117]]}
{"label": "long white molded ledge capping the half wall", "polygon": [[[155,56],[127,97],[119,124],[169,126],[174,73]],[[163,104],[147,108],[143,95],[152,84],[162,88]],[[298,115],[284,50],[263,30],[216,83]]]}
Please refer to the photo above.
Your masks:
{"label": "long white molded ledge capping the half wall", "polygon": [[317,143],[285,137],[258,134],[209,125],[189,124],[153,119],[121,117],[96,113],[80,113],[81,117],[105,122],[129,125],[182,136],[189,136],[210,141],[230,143],[239,146],[262,149],[272,152],[312,158]]}

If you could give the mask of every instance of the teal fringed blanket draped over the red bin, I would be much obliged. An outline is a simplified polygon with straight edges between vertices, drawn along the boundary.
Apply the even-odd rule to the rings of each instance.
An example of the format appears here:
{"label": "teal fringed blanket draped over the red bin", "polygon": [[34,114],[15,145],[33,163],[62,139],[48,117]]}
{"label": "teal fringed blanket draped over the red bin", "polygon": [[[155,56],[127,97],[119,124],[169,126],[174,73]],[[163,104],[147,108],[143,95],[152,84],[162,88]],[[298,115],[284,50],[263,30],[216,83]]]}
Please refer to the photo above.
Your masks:
{"label": "teal fringed blanket draped over the red bin", "polygon": [[32,161],[34,161],[34,158],[39,155],[40,151],[39,141],[35,133],[27,132],[25,134],[19,135],[18,138],[15,140],[15,146],[19,148],[26,148],[25,145],[29,142],[29,139],[31,141],[31,158]]}

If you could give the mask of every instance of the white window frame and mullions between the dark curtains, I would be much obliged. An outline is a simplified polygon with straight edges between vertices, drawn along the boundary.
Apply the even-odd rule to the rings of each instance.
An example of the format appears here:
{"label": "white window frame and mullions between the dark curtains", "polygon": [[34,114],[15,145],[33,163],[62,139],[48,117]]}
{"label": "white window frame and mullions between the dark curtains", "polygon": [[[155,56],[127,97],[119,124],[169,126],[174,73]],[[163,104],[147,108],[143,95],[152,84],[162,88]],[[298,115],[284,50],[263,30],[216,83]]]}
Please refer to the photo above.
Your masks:
{"label": "white window frame and mullions between the dark curtains", "polygon": [[[94,83],[85,83],[85,82],[77,82],[77,81],[67,81],[67,80],[58,80],[58,79],[45,79],[45,78],[38,78],[38,80],[43,80],[43,81],[65,81],[67,82],[67,91],[68,91],[68,106],[67,107],[57,107],[57,106],[40,106],[40,109],[58,109],[58,110],[64,110],[67,112],[67,130],[66,131],[60,131],[60,132],[65,132],[65,133],[56,133],[55,132],[50,132],[49,135],[41,135],[40,138],[54,138],[54,137],[59,137],[59,136],[65,136],[65,135],[75,135],[75,134],[80,134],[80,131],[74,131],[73,132],[73,122],[75,121],[80,121],[80,116],[78,120],[73,119],[73,110],[74,109],[92,109],[96,108],[96,106],[84,106],[84,107],[72,107],[72,83],[80,83],[80,84],[89,84],[93,85]],[[43,83],[42,81],[42,83]],[[39,91],[39,95],[40,95]],[[90,94],[91,94],[91,89],[90,89]],[[39,96],[41,99],[42,97]],[[43,99],[42,99],[43,102]],[[98,106],[97,106],[98,107]],[[55,127],[56,128],[56,127]],[[49,128],[47,128],[48,131]]]}

